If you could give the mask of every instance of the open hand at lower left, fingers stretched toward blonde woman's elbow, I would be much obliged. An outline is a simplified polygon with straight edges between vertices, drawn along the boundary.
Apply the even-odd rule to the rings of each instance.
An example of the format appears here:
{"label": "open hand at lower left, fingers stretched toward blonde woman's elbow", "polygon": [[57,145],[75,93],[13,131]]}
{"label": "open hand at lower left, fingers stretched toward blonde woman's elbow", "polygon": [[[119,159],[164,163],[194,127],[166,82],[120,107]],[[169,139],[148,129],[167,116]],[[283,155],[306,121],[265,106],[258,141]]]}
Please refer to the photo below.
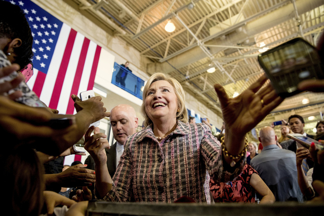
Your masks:
{"label": "open hand at lower left, fingers stretched toward blonde woman's elbow", "polygon": [[95,171],[86,167],[87,165],[77,164],[56,174],[58,184],[64,188],[91,186],[96,182]]}

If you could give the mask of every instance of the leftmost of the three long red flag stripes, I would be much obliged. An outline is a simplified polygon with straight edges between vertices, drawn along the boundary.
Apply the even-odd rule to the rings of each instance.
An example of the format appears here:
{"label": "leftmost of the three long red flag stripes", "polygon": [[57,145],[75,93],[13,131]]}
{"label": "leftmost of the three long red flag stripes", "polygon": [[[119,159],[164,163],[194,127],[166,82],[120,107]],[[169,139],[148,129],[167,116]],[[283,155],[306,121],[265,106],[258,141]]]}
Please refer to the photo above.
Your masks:
{"label": "leftmost of the three long red flag stripes", "polygon": [[71,57],[71,53],[72,53],[76,33],[77,32],[74,29],[71,29],[69,37],[67,39],[67,44],[66,44],[65,51],[64,51],[64,54],[63,54],[60,69],[59,69],[58,74],[57,74],[56,82],[55,82],[54,89],[53,89],[52,98],[51,98],[50,105],[49,105],[49,107],[52,108],[52,109],[56,109],[57,105],[59,103],[59,96],[61,95],[62,85],[63,85],[63,81],[64,81],[64,78],[65,78],[67,66],[68,66],[68,63],[70,61],[70,57]]}

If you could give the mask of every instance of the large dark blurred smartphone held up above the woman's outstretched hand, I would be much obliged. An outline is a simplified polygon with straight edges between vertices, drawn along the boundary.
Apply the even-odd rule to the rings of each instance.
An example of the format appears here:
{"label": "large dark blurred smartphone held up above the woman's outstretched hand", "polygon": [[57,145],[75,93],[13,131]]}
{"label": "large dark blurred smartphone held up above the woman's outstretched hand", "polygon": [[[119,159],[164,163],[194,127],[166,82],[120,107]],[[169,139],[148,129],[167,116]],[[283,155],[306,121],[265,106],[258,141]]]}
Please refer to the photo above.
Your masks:
{"label": "large dark blurred smartphone held up above the woman's outstretched hand", "polygon": [[316,48],[300,37],[259,54],[258,62],[282,98],[300,93],[297,85],[305,79],[324,78]]}

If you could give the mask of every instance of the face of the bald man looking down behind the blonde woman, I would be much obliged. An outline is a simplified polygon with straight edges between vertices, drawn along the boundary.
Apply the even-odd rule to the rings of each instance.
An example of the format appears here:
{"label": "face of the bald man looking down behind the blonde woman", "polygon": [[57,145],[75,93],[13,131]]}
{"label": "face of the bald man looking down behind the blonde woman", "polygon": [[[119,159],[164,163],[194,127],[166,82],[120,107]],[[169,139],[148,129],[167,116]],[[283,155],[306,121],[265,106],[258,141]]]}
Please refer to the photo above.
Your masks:
{"label": "face of the bald man looking down behind the blonde woman", "polygon": [[127,110],[112,110],[110,115],[113,138],[120,144],[124,145],[128,136],[136,132],[138,124],[137,118],[128,113]]}

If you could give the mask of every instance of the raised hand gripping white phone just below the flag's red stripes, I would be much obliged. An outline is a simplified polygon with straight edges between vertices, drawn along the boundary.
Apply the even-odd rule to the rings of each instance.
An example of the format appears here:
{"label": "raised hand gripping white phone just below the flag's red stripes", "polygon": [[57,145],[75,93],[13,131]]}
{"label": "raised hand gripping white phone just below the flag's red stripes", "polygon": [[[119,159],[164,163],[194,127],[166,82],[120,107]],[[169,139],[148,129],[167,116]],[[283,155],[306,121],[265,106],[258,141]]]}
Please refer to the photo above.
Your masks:
{"label": "raised hand gripping white phone just below the flag's red stripes", "polygon": [[71,98],[74,101],[76,112],[83,110],[87,111],[89,116],[92,116],[91,123],[110,116],[110,112],[106,112],[107,109],[103,106],[104,104],[100,96],[92,97],[85,101],[81,101],[76,95],[72,95]]}

